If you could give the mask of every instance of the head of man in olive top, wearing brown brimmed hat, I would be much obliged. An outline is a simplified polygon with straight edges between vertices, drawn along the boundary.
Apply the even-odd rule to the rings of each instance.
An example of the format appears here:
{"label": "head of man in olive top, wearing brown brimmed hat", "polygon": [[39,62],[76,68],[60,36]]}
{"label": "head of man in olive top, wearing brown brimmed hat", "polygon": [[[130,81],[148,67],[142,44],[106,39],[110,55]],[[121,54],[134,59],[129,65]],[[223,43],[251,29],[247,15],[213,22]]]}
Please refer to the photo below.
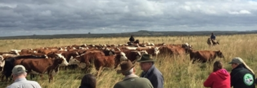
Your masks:
{"label": "head of man in olive top, wearing brown brimmed hat", "polygon": [[135,65],[130,60],[121,61],[121,70],[117,70],[117,73],[122,73],[124,76],[135,74]]}

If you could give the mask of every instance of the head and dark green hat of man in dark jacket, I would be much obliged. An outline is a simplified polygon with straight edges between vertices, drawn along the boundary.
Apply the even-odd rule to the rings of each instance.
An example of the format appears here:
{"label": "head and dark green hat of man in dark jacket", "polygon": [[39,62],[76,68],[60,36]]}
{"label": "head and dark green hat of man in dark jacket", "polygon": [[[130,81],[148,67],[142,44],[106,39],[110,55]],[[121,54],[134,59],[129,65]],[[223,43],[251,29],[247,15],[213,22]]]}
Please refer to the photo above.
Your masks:
{"label": "head and dark green hat of man in dark jacket", "polygon": [[141,58],[137,60],[140,63],[141,70],[148,71],[154,64],[153,56],[150,54],[142,54]]}

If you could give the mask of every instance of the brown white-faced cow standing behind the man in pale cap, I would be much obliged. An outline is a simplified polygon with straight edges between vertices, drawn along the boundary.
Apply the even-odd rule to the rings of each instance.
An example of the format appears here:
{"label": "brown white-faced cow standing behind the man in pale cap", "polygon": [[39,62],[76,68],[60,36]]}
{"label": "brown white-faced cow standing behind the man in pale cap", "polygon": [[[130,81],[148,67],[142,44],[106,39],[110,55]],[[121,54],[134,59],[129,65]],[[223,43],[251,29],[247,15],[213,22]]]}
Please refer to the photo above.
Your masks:
{"label": "brown white-faced cow standing behind the man in pale cap", "polygon": [[[59,66],[67,66],[69,63],[63,58],[56,59],[23,59],[21,65],[23,65],[29,74],[42,74],[48,73],[49,83],[53,80],[53,75],[58,73]],[[54,71],[53,71],[54,70]]]}

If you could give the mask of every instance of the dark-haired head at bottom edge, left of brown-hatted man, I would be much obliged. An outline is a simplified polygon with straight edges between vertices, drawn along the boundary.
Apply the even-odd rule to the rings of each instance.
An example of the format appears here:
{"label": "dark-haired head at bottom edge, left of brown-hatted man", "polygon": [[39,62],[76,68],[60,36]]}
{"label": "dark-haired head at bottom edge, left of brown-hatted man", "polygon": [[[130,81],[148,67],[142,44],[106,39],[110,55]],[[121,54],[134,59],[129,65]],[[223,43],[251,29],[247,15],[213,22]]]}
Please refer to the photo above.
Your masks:
{"label": "dark-haired head at bottom edge, left of brown-hatted man", "polygon": [[92,74],[85,74],[81,80],[81,84],[89,88],[96,88],[96,77]]}

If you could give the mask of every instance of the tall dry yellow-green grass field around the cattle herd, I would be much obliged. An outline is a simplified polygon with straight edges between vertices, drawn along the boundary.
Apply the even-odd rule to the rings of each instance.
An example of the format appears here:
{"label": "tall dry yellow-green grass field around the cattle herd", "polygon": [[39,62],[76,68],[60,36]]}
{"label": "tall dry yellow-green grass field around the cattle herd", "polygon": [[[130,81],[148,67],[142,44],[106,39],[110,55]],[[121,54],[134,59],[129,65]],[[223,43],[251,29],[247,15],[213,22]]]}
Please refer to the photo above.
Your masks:
{"label": "tall dry yellow-green grass field around the cattle herd", "polygon": [[[221,50],[225,58],[217,58],[224,64],[225,69],[231,71],[231,66],[227,64],[233,57],[241,57],[254,72],[257,72],[257,34],[250,35],[229,35],[217,36],[220,45],[209,47],[206,43],[207,38],[194,37],[136,37],[140,42],[151,43],[166,43],[166,44],[182,44],[189,43],[193,45],[194,50]],[[51,39],[51,40],[0,40],[1,52],[7,52],[11,49],[25,49],[25,48],[39,48],[51,46],[65,46],[65,45],[82,45],[82,44],[124,44],[129,38],[76,38],[76,39]],[[170,58],[168,56],[156,57],[159,63],[156,67],[162,72],[164,76],[164,88],[204,88],[203,82],[212,72],[211,64],[191,64],[189,55],[184,57]],[[183,59],[185,61],[183,61]],[[136,65],[136,74],[140,75],[141,70],[139,65]],[[118,68],[120,69],[120,68]],[[93,69],[90,73],[95,74]],[[84,71],[80,69],[72,69],[67,71],[60,71],[54,76],[51,83],[48,83],[47,75],[44,80],[40,80],[39,76],[36,79],[42,88],[78,88],[81,78],[84,76]],[[116,74],[114,70],[102,71],[101,76],[97,78],[97,88],[112,88],[115,83],[122,80],[124,76]],[[28,76],[29,78],[29,76]],[[11,83],[0,82],[0,88],[5,88]]]}

